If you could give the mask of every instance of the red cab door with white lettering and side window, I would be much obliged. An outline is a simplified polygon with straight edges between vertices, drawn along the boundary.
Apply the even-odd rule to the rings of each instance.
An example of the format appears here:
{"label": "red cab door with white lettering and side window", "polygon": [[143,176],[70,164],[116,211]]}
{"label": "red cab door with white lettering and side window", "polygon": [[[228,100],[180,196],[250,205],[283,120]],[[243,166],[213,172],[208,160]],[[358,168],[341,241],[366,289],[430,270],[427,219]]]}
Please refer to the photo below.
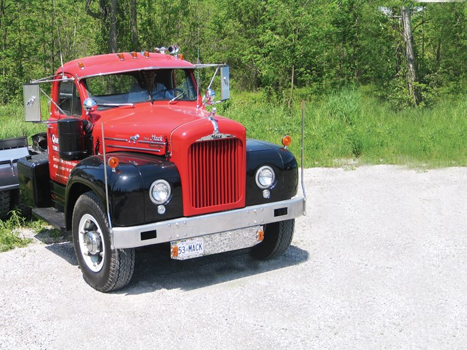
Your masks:
{"label": "red cab door with white lettering and side window", "polygon": [[[67,78],[70,78],[69,76]],[[82,118],[82,102],[79,87],[73,80],[56,81],[53,85],[51,117],[47,124],[47,144],[49,146],[49,172],[51,180],[66,185],[70,172],[78,161],[66,161],[59,157],[59,137],[57,122],[64,118]]]}

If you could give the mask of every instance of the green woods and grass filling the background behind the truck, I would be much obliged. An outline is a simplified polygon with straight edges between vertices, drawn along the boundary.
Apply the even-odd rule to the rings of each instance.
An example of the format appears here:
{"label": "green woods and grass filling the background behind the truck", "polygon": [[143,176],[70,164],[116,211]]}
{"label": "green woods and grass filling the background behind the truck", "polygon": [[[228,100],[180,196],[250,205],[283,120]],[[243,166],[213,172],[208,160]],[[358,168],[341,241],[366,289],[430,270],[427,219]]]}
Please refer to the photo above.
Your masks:
{"label": "green woods and grass filling the background behind the truck", "polygon": [[218,111],[249,137],[290,133],[299,154],[304,100],[306,166],[467,165],[464,2],[0,0],[0,137],[43,127],[18,122],[22,85],[52,75],[60,52],[170,44],[230,65]]}

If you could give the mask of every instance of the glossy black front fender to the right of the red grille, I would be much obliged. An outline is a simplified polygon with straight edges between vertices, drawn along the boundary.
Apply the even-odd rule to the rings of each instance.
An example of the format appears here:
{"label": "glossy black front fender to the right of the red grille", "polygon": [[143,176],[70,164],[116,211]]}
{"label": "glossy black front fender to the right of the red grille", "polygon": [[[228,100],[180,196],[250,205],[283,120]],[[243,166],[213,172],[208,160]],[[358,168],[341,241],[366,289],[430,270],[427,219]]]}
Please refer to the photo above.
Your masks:
{"label": "glossy black front fender to the right of the red grille", "polygon": [[[246,205],[288,200],[297,194],[298,165],[293,154],[284,147],[269,142],[247,139]],[[276,172],[276,181],[269,188],[270,197],[256,185],[256,170],[269,165]]]}

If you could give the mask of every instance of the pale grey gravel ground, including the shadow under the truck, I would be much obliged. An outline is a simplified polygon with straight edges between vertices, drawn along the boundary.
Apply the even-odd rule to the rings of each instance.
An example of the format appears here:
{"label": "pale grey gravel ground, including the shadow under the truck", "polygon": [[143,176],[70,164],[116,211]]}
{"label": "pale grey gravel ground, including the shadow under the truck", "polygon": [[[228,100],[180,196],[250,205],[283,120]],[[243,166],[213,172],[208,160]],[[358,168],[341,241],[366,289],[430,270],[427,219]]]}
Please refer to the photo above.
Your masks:
{"label": "pale grey gravel ground, including the shadow under the truck", "polygon": [[137,251],[123,291],[72,243],[0,254],[0,349],[467,349],[467,168],[305,172],[286,254]]}

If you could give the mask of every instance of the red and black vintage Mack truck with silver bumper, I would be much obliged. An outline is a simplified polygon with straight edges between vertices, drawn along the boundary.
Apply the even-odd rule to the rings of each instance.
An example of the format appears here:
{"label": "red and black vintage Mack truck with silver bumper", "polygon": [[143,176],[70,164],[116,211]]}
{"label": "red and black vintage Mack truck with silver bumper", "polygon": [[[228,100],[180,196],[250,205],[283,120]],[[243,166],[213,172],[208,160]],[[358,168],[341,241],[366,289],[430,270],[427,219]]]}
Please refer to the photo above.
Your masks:
{"label": "red and black vintage Mack truck with silver bumper", "polygon": [[[229,67],[210,66],[229,98]],[[208,111],[214,78],[200,94],[198,68],[170,46],[76,59],[24,85],[26,120],[46,124],[46,152],[18,159],[21,202],[72,232],[98,291],[126,286],[144,245],[164,243],[176,259],[244,247],[278,256],[305,213],[289,137],[282,146],[247,139],[242,124]]]}

